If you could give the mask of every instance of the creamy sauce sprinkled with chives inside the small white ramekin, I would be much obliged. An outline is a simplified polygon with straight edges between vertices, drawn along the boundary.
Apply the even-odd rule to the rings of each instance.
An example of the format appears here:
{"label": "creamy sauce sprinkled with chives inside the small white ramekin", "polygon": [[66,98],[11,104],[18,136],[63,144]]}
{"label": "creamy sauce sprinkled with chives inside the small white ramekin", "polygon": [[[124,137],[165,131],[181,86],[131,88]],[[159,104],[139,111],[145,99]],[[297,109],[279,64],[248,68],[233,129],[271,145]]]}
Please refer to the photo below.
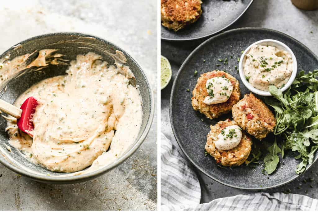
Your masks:
{"label": "creamy sauce sprinkled with chives inside the small white ramekin", "polygon": [[283,87],[293,72],[293,60],[285,50],[274,46],[254,45],[243,64],[245,79],[254,87],[268,91],[269,85]]}

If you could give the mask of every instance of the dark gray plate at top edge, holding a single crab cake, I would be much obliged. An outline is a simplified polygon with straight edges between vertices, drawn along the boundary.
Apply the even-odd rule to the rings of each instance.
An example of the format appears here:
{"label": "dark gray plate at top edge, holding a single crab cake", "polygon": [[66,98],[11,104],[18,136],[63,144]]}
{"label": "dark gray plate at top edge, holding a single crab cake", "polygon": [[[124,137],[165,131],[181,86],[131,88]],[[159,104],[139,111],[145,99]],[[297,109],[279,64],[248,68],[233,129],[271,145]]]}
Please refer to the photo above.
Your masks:
{"label": "dark gray plate at top edge, holding a single crab cake", "polygon": [[161,25],[161,39],[184,41],[215,35],[234,24],[252,2],[253,0],[204,0],[202,16],[196,23],[177,32]]}

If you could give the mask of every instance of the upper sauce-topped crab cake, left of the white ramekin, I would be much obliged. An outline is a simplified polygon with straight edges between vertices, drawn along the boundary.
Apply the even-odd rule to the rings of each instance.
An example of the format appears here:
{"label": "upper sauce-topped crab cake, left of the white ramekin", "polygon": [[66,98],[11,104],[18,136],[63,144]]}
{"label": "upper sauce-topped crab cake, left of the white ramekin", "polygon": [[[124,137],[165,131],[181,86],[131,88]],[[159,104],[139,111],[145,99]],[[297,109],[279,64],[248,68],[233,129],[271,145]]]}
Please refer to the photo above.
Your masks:
{"label": "upper sauce-topped crab cake, left of the white ramekin", "polygon": [[192,95],[193,109],[215,119],[230,112],[239,101],[239,81],[223,71],[207,72],[197,79]]}

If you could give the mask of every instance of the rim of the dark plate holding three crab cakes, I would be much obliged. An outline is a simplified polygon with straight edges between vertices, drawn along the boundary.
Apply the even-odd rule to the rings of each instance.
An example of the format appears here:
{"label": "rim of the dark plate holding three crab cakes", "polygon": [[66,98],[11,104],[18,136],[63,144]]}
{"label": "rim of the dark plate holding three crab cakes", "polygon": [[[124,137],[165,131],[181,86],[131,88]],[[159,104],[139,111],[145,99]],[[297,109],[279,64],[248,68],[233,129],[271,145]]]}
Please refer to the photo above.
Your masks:
{"label": "rim of the dark plate holding three crab cakes", "polygon": [[[268,187],[261,187],[261,188],[245,188],[245,187],[242,187],[242,186],[235,186],[235,185],[231,185],[231,184],[228,184],[228,183],[225,183],[225,182],[222,182],[222,181],[219,181],[218,179],[216,179],[215,177],[211,176],[210,174],[208,174],[206,171],[204,171],[203,169],[199,168],[198,165],[192,161],[190,159],[190,157],[188,156],[188,154],[185,152],[185,150],[183,149],[183,147],[181,146],[181,143],[179,141],[179,139],[177,138],[177,135],[176,135],[176,129],[175,129],[175,126],[173,125],[173,115],[172,115],[172,99],[173,99],[173,94],[175,92],[175,89],[176,89],[176,82],[177,82],[177,79],[183,69],[184,66],[187,65],[187,62],[188,60],[192,57],[192,55],[194,55],[201,47],[203,47],[206,43],[210,42],[211,40],[213,39],[216,39],[218,37],[221,37],[225,34],[231,34],[231,33],[235,33],[235,32],[241,32],[241,31],[250,31],[250,30],[257,30],[257,31],[270,31],[270,32],[274,32],[274,33],[278,33],[280,35],[283,35],[283,36],[286,36],[287,38],[291,39],[292,41],[294,41],[295,43],[297,44],[300,44],[302,45],[307,51],[309,51],[312,55],[315,56],[315,58],[318,60],[318,56],[313,52],[311,51],[306,45],[302,44],[301,42],[299,42],[298,40],[296,40],[295,38],[283,33],[283,32],[280,32],[280,31],[277,31],[277,30],[273,30],[273,29],[268,29],[268,28],[262,28],[262,27],[242,27],[242,28],[236,28],[236,29],[232,29],[232,30],[228,30],[228,31],[225,31],[225,32],[222,32],[218,35],[215,35],[207,40],[205,40],[203,43],[201,43],[200,45],[198,45],[189,55],[188,57],[183,61],[182,65],[180,66],[177,74],[176,74],[176,77],[175,79],[173,80],[173,85],[172,85],[172,89],[171,89],[171,94],[170,94],[170,99],[169,99],[169,119],[170,119],[170,125],[171,125],[171,128],[172,128],[172,133],[177,141],[177,144],[178,146],[180,147],[181,151],[183,152],[183,154],[186,156],[186,159],[188,161],[190,161],[190,163],[197,169],[199,170],[200,172],[202,172],[203,174],[205,174],[207,177],[211,178],[212,180],[214,181],[217,181],[225,186],[228,186],[228,187],[232,187],[232,188],[238,188],[238,189],[242,189],[242,190],[249,190],[249,191],[262,191],[262,190],[268,190],[268,189],[272,189],[272,188],[278,188],[280,186],[283,186],[283,185],[286,185],[287,183],[289,182],[292,182],[294,180],[296,180],[299,176],[301,176],[302,174],[304,174],[305,172],[307,172],[314,164],[315,162],[318,161],[318,157],[315,158],[315,160],[312,162],[312,164],[308,165],[307,168],[305,169],[305,171],[301,174],[298,174],[296,175],[294,178],[286,181],[286,182],[283,182],[283,183],[280,183],[280,184],[277,184],[277,185],[273,185],[273,186],[268,186]],[[318,153],[316,153],[318,154]]]}

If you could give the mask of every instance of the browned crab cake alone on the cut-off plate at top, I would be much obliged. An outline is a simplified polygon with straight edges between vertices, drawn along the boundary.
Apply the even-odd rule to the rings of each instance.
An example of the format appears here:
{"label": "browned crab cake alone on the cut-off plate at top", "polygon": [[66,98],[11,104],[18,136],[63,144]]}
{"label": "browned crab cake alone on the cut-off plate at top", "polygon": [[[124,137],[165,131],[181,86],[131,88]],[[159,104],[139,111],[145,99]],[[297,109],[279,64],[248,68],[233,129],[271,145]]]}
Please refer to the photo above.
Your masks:
{"label": "browned crab cake alone on the cut-off plate at top", "polygon": [[161,24],[178,31],[201,16],[201,0],[161,0]]}

